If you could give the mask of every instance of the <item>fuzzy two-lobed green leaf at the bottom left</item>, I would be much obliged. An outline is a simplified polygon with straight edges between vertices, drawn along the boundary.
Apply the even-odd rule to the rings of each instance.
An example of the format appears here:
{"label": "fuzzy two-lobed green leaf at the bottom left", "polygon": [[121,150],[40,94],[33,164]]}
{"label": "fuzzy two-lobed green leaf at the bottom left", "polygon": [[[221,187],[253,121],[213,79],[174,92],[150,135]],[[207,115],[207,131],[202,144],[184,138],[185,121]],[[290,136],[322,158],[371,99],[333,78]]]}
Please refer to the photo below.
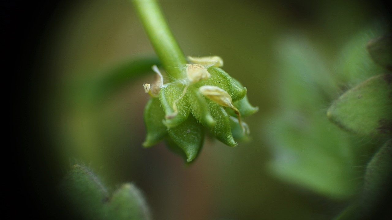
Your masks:
{"label": "fuzzy two-lobed green leaf at the bottom left", "polygon": [[151,219],[142,193],[133,184],[123,184],[110,196],[99,177],[80,164],[67,173],[59,190],[76,219]]}

